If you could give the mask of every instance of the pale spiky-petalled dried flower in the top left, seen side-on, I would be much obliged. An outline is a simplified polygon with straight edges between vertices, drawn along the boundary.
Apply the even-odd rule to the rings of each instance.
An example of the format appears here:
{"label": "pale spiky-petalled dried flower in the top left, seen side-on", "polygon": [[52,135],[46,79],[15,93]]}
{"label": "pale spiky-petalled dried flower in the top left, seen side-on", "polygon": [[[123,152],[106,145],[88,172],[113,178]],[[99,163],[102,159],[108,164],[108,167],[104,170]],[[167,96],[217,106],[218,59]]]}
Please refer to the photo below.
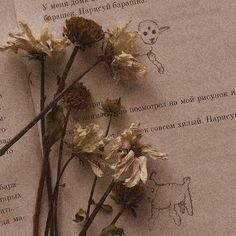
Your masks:
{"label": "pale spiky-petalled dried flower in the top left, seen side-on", "polygon": [[39,37],[33,35],[27,24],[19,22],[21,33],[10,33],[10,37],[15,41],[9,41],[0,48],[0,51],[12,50],[18,53],[21,49],[26,51],[31,58],[42,59],[46,55],[51,56],[53,53],[62,52],[69,45],[66,39],[55,39],[52,34],[48,33],[48,24],[45,23]]}

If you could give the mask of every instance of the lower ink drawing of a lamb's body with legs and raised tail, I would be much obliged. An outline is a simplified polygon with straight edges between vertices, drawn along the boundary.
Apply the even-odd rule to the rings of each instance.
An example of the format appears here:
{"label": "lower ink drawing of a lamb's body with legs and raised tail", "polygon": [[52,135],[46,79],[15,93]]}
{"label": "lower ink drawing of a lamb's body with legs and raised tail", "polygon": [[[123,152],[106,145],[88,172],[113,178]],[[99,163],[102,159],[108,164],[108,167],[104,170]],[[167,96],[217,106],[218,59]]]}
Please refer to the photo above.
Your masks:
{"label": "lower ink drawing of a lamb's body with legs and raised tail", "polygon": [[[148,184],[147,200],[151,204],[151,216],[149,219],[149,230],[153,230],[156,220],[162,210],[168,210],[170,218],[178,226],[182,219],[179,214],[193,216],[193,204],[190,191],[190,177],[183,178],[183,183],[158,184],[155,180],[156,173],[150,176]],[[179,210],[179,211],[178,211]]]}

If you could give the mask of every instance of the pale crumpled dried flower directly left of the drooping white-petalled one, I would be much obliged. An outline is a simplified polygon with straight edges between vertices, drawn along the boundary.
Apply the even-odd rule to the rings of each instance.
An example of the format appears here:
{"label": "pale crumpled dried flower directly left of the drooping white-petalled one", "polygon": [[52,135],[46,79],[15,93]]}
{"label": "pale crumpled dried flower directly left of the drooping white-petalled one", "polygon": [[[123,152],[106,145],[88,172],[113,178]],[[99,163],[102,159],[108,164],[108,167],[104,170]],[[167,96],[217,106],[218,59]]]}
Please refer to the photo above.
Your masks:
{"label": "pale crumpled dried flower directly left of the drooping white-petalled one", "polygon": [[104,138],[103,130],[99,125],[89,124],[82,128],[75,125],[73,141],[69,144],[72,155],[76,155],[82,162],[87,162],[95,175],[101,177],[106,161],[103,158],[103,150],[109,139]]}

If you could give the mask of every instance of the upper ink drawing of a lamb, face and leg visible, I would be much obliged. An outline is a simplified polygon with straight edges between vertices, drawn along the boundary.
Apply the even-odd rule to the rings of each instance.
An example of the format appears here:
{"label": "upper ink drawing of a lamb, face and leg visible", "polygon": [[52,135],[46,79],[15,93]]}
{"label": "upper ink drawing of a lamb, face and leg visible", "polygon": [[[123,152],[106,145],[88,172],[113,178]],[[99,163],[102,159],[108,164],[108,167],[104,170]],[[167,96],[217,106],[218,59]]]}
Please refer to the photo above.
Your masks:
{"label": "upper ink drawing of a lamb, face and leg visible", "polygon": [[139,23],[138,33],[142,41],[146,45],[150,45],[150,50],[147,52],[148,59],[154,64],[160,74],[163,74],[165,69],[161,62],[157,59],[157,55],[153,52],[152,45],[156,44],[158,37],[164,31],[170,29],[169,26],[160,27],[155,21],[145,20]]}

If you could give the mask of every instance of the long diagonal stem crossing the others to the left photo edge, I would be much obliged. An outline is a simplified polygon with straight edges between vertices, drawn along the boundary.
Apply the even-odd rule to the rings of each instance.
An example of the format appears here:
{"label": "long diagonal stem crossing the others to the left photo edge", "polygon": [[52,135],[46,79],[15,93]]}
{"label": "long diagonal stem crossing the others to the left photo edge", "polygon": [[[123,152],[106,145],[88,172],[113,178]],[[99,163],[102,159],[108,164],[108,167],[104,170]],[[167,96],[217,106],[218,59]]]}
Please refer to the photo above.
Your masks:
{"label": "long diagonal stem crossing the others to the left photo edge", "polygon": [[60,92],[45,108],[40,112],[28,125],[26,125],[18,134],[16,134],[5,146],[0,149],[0,156],[3,156],[5,152],[14,145],[20,138],[22,138],[35,124],[38,123],[42,117],[47,114],[70,90],[79,80],[81,80],[87,73],[89,73],[94,67],[101,63],[103,59],[98,59],[92,66],[90,66],[84,73],[82,73],[77,79],[71,82],[62,92]]}

